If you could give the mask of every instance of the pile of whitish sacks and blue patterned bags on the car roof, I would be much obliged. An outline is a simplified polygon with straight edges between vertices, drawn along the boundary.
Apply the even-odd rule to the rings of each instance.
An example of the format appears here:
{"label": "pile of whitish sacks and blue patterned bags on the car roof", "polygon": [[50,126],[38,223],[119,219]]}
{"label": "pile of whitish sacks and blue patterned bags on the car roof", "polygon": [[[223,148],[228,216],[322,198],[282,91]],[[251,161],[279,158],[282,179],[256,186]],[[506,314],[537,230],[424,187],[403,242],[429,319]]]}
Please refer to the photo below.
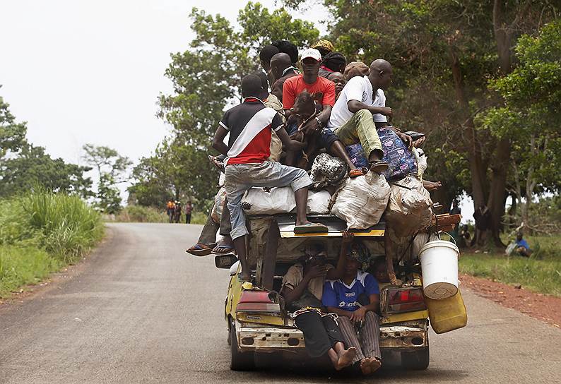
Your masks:
{"label": "pile of whitish sacks and blue patterned bags on the car roof", "polygon": [[[307,212],[332,214],[345,220],[348,229],[365,229],[377,224],[385,212],[385,220],[399,237],[413,236],[431,224],[432,200],[423,187],[427,167],[422,150],[408,149],[394,131],[379,130],[384,161],[389,168],[382,174],[367,172],[350,179],[346,164],[326,153],[318,155],[309,171],[314,181],[309,192]],[[357,167],[367,163],[360,144],[347,151]],[[293,190],[283,188],[252,188],[242,199],[242,208],[249,215],[275,215],[294,212]]]}

